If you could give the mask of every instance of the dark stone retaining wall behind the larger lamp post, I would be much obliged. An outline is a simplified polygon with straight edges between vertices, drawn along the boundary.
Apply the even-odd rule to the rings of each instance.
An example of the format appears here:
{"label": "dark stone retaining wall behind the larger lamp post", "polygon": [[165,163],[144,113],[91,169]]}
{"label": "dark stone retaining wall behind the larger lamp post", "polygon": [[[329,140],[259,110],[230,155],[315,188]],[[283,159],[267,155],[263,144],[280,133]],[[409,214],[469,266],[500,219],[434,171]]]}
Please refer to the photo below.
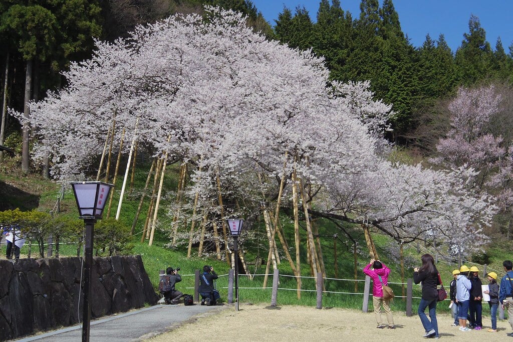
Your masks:
{"label": "dark stone retaining wall behind the larger lamp post", "polygon": [[[0,260],[0,340],[82,322],[81,270],[78,257]],[[159,300],[140,255],[94,258],[91,291],[92,318]]]}

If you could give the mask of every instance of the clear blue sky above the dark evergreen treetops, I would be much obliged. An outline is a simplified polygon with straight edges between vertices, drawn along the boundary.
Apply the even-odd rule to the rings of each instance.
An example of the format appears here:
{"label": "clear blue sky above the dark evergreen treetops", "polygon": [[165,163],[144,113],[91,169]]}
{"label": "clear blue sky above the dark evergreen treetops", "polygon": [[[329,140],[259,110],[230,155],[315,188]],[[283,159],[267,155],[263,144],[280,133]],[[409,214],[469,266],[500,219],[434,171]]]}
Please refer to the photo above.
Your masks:
{"label": "clear blue sky above the dark evergreen treetops", "polygon": [[[251,0],[274,26],[274,20],[286,6],[295,12],[304,6],[313,21],[317,17],[320,0]],[[330,2],[331,3],[331,2]],[[360,16],[360,0],[341,0],[341,7],[351,12],[353,18]],[[380,5],[383,0],[380,0]],[[421,46],[429,33],[433,40],[443,33],[452,51],[461,45],[463,33],[468,32],[470,15],[476,15],[486,31],[486,40],[495,49],[497,37],[501,37],[506,53],[513,42],[512,0],[394,0],[403,32],[413,46]]]}

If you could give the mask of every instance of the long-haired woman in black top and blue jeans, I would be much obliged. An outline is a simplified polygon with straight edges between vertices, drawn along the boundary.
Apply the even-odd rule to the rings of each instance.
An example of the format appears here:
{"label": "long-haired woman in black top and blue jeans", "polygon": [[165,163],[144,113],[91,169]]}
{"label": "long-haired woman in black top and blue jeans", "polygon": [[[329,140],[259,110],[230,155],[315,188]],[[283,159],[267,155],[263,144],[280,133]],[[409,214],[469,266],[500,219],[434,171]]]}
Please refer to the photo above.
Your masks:
{"label": "long-haired woman in black top and blue jeans", "polygon": [[[435,337],[438,335],[438,322],[437,322],[437,302],[438,291],[437,285],[440,284],[438,279],[438,270],[435,266],[435,259],[430,254],[424,254],[422,257],[422,267],[413,269],[413,281],[416,284],[422,281],[422,299],[419,303],[419,310],[417,311],[420,321],[424,326],[426,333],[423,337]],[[429,307],[429,318],[424,312]]]}

